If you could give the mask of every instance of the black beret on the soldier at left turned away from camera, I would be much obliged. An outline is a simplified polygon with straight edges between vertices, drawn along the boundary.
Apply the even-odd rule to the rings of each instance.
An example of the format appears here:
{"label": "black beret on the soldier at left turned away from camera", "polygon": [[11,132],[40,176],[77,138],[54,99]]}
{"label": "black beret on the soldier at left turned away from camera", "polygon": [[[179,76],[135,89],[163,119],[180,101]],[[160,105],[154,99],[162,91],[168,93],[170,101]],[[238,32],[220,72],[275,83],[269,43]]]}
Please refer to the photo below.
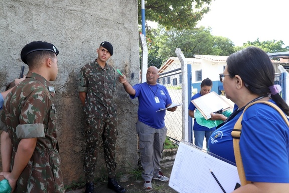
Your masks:
{"label": "black beret on the soldier at left turned away from camera", "polygon": [[37,42],[31,42],[29,44],[26,44],[24,48],[21,50],[21,59],[24,63],[27,64],[26,57],[28,54],[35,52],[35,51],[42,51],[42,50],[47,50],[55,53],[58,55],[59,50],[51,43],[48,42],[42,42],[42,41],[37,41]]}

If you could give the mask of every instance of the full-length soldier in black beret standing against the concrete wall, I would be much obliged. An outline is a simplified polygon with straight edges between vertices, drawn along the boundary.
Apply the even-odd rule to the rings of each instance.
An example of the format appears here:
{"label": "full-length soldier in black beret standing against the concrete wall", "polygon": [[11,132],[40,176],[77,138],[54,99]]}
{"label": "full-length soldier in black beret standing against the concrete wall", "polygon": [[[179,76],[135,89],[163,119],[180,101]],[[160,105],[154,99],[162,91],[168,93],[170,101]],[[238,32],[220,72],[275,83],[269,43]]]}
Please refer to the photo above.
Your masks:
{"label": "full-length soldier in black beret standing against the concrete wall", "polygon": [[83,163],[86,178],[85,192],[90,193],[94,190],[94,171],[102,138],[108,172],[107,187],[123,193],[126,190],[115,179],[117,136],[116,105],[113,99],[115,69],[106,63],[113,54],[113,47],[109,42],[102,42],[96,52],[97,59],[81,68],[78,81],[79,97],[86,114],[86,151]]}

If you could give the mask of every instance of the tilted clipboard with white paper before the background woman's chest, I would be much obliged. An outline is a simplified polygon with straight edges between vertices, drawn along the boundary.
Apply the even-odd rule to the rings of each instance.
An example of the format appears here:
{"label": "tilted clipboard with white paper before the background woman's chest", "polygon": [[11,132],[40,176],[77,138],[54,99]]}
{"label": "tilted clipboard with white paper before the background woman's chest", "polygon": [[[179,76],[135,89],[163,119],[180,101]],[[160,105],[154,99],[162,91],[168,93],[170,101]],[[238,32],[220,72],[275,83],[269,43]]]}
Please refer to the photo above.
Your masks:
{"label": "tilted clipboard with white paper before the background woman's chest", "polygon": [[233,106],[225,101],[219,94],[212,91],[191,101],[206,120],[211,118],[211,113],[232,109]]}

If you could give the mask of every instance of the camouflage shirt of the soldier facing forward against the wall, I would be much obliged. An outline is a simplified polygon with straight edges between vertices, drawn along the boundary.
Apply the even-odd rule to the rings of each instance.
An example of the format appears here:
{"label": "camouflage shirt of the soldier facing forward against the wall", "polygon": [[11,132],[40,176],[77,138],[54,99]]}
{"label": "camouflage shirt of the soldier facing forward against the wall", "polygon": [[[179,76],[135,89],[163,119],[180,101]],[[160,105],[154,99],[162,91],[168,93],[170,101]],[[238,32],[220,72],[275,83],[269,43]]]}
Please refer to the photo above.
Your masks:
{"label": "camouflage shirt of the soldier facing forward against the wall", "polygon": [[83,66],[79,75],[79,92],[87,92],[84,111],[86,117],[107,119],[116,118],[115,69],[105,64],[104,68],[96,62]]}

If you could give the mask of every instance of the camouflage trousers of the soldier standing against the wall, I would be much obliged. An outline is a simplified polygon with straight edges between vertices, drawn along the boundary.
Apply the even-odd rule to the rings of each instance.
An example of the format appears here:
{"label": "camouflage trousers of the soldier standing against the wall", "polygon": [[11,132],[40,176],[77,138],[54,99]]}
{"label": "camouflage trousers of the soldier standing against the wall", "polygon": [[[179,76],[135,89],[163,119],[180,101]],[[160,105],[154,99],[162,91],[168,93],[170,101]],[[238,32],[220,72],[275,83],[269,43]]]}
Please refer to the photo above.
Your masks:
{"label": "camouflage trousers of the soldier standing against the wall", "polygon": [[117,136],[117,118],[94,119],[87,118],[85,122],[86,150],[84,156],[84,172],[86,182],[94,180],[94,171],[98,148],[103,141],[104,161],[107,168],[108,177],[115,177],[115,143]]}

